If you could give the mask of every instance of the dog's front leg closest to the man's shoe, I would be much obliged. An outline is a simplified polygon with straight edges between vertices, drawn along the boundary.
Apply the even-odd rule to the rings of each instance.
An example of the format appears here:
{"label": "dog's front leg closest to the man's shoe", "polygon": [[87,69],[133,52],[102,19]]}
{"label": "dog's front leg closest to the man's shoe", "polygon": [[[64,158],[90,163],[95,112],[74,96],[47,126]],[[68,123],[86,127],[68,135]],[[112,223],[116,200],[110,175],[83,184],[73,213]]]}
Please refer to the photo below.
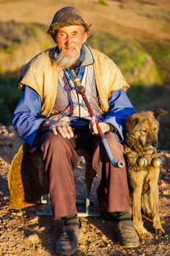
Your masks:
{"label": "dog's front leg closest to the man's shoe", "polygon": [[[135,179],[136,176],[136,179]],[[153,238],[153,235],[146,230],[142,222],[141,214],[141,196],[142,196],[142,184],[144,180],[144,175],[142,172],[136,172],[133,174],[133,189],[132,189],[132,209],[133,209],[133,221],[138,235],[142,239]],[[140,182],[139,182],[140,181]]]}

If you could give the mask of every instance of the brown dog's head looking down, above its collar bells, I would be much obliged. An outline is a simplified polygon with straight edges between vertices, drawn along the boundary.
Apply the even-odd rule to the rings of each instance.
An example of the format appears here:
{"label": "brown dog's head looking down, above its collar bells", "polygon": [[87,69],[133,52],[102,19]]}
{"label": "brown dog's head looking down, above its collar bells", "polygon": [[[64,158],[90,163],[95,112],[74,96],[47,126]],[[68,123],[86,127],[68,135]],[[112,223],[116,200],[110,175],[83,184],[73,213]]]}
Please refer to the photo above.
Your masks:
{"label": "brown dog's head looking down, above its collar bells", "polygon": [[134,113],[126,123],[126,141],[132,148],[154,150],[158,145],[159,116],[167,111],[155,108],[151,111]]}

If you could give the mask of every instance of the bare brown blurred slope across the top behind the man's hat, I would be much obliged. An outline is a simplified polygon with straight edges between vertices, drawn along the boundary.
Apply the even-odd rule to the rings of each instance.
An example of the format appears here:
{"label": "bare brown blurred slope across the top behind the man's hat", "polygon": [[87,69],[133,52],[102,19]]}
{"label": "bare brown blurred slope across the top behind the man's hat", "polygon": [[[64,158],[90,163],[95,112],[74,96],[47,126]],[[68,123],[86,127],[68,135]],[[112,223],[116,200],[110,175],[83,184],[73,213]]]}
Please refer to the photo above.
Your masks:
{"label": "bare brown blurred slope across the top behind the man's hat", "polygon": [[[169,22],[161,13],[163,9],[160,6],[158,9],[157,5],[144,3],[141,5],[140,1],[105,1],[107,5],[101,5],[98,2],[96,0],[0,1],[0,20],[49,25],[57,9],[72,5],[81,9],[87,21],[97,30],[110,31],[133,38],[170,39]],[[162,6],[166,3],[165,1],[157,2],[159,5],[161,2]],[[147,14],[148,11],[150,15]]]}

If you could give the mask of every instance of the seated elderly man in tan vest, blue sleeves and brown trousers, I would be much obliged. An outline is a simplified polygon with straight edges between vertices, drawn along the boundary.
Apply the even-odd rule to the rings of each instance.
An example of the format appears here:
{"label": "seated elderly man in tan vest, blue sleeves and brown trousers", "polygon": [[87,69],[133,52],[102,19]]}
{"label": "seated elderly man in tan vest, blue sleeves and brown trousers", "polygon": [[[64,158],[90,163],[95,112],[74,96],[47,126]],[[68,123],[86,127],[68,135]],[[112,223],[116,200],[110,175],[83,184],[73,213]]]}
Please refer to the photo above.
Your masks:
{"label": "seated elderly man in tan vest, blue sleeves and brown trousers", "polygon": [[[116,159],[124,160],[124,120],[134,109],[124,89],[128,86],[111,59],[85,42],[89,26],[75,7],[56,12],[48,34],[56,46],[22,67],[19,86],[24,90],[13,115],[13,126],[32,148],[40,147],[48,174],[50,200],[55,219],[64,220],[56,243],[60,255],[77,251],[83,234],[77,217],[73,170],[83,148],[93,156],[93,168],[108,189],[108,212],[118,215],[124,247],[137,247],[138,235],[129,212],[126,167],[115,168],[98,135],[95,118]],[[85,86],[95,117],[90,117],[73,84],[74,70]],[[73,129],[74,125],[74,129]]]}

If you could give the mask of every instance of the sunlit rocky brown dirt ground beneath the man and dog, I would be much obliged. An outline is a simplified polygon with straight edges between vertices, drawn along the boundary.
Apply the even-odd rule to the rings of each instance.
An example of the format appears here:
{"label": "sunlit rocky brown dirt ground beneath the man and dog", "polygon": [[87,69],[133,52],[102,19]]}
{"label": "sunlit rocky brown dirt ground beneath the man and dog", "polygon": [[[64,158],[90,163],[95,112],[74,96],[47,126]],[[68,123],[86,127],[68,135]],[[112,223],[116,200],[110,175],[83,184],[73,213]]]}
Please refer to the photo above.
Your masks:
{"label": "sunlit rocky brown dirt ground beneath the man and dog", "polygon": [[[8,171],[13,158],[15,132],[13,127],[0,125],[0,255],[56,255],[55,243],[62,230],[61,220],[52,220],[50,216],[36,216],[36,211],[43,210],[44,205],[37,204],[23,210],[9,209]],[[163,161],[159,179],[160,212],[165,218],[164,236],[155,236],[151,240],[142,241],[136,249],[124,249],[118,244],[117,226],[115,222],[103,218],[81,218],[84,233],[79,243],[77,255],[170,255],[170,152],[159,152]],[[81,158],[75,170],[77,197],[83,199],[85,185],[83,183],[85,162]],[[97,212],[96,189],[99,184],[94,179],[91,198],[95,203],[91,207]],[[85,207],[79,206],[79,211]],[[144,226],[153,232],[153,225],[144,219]]]}

